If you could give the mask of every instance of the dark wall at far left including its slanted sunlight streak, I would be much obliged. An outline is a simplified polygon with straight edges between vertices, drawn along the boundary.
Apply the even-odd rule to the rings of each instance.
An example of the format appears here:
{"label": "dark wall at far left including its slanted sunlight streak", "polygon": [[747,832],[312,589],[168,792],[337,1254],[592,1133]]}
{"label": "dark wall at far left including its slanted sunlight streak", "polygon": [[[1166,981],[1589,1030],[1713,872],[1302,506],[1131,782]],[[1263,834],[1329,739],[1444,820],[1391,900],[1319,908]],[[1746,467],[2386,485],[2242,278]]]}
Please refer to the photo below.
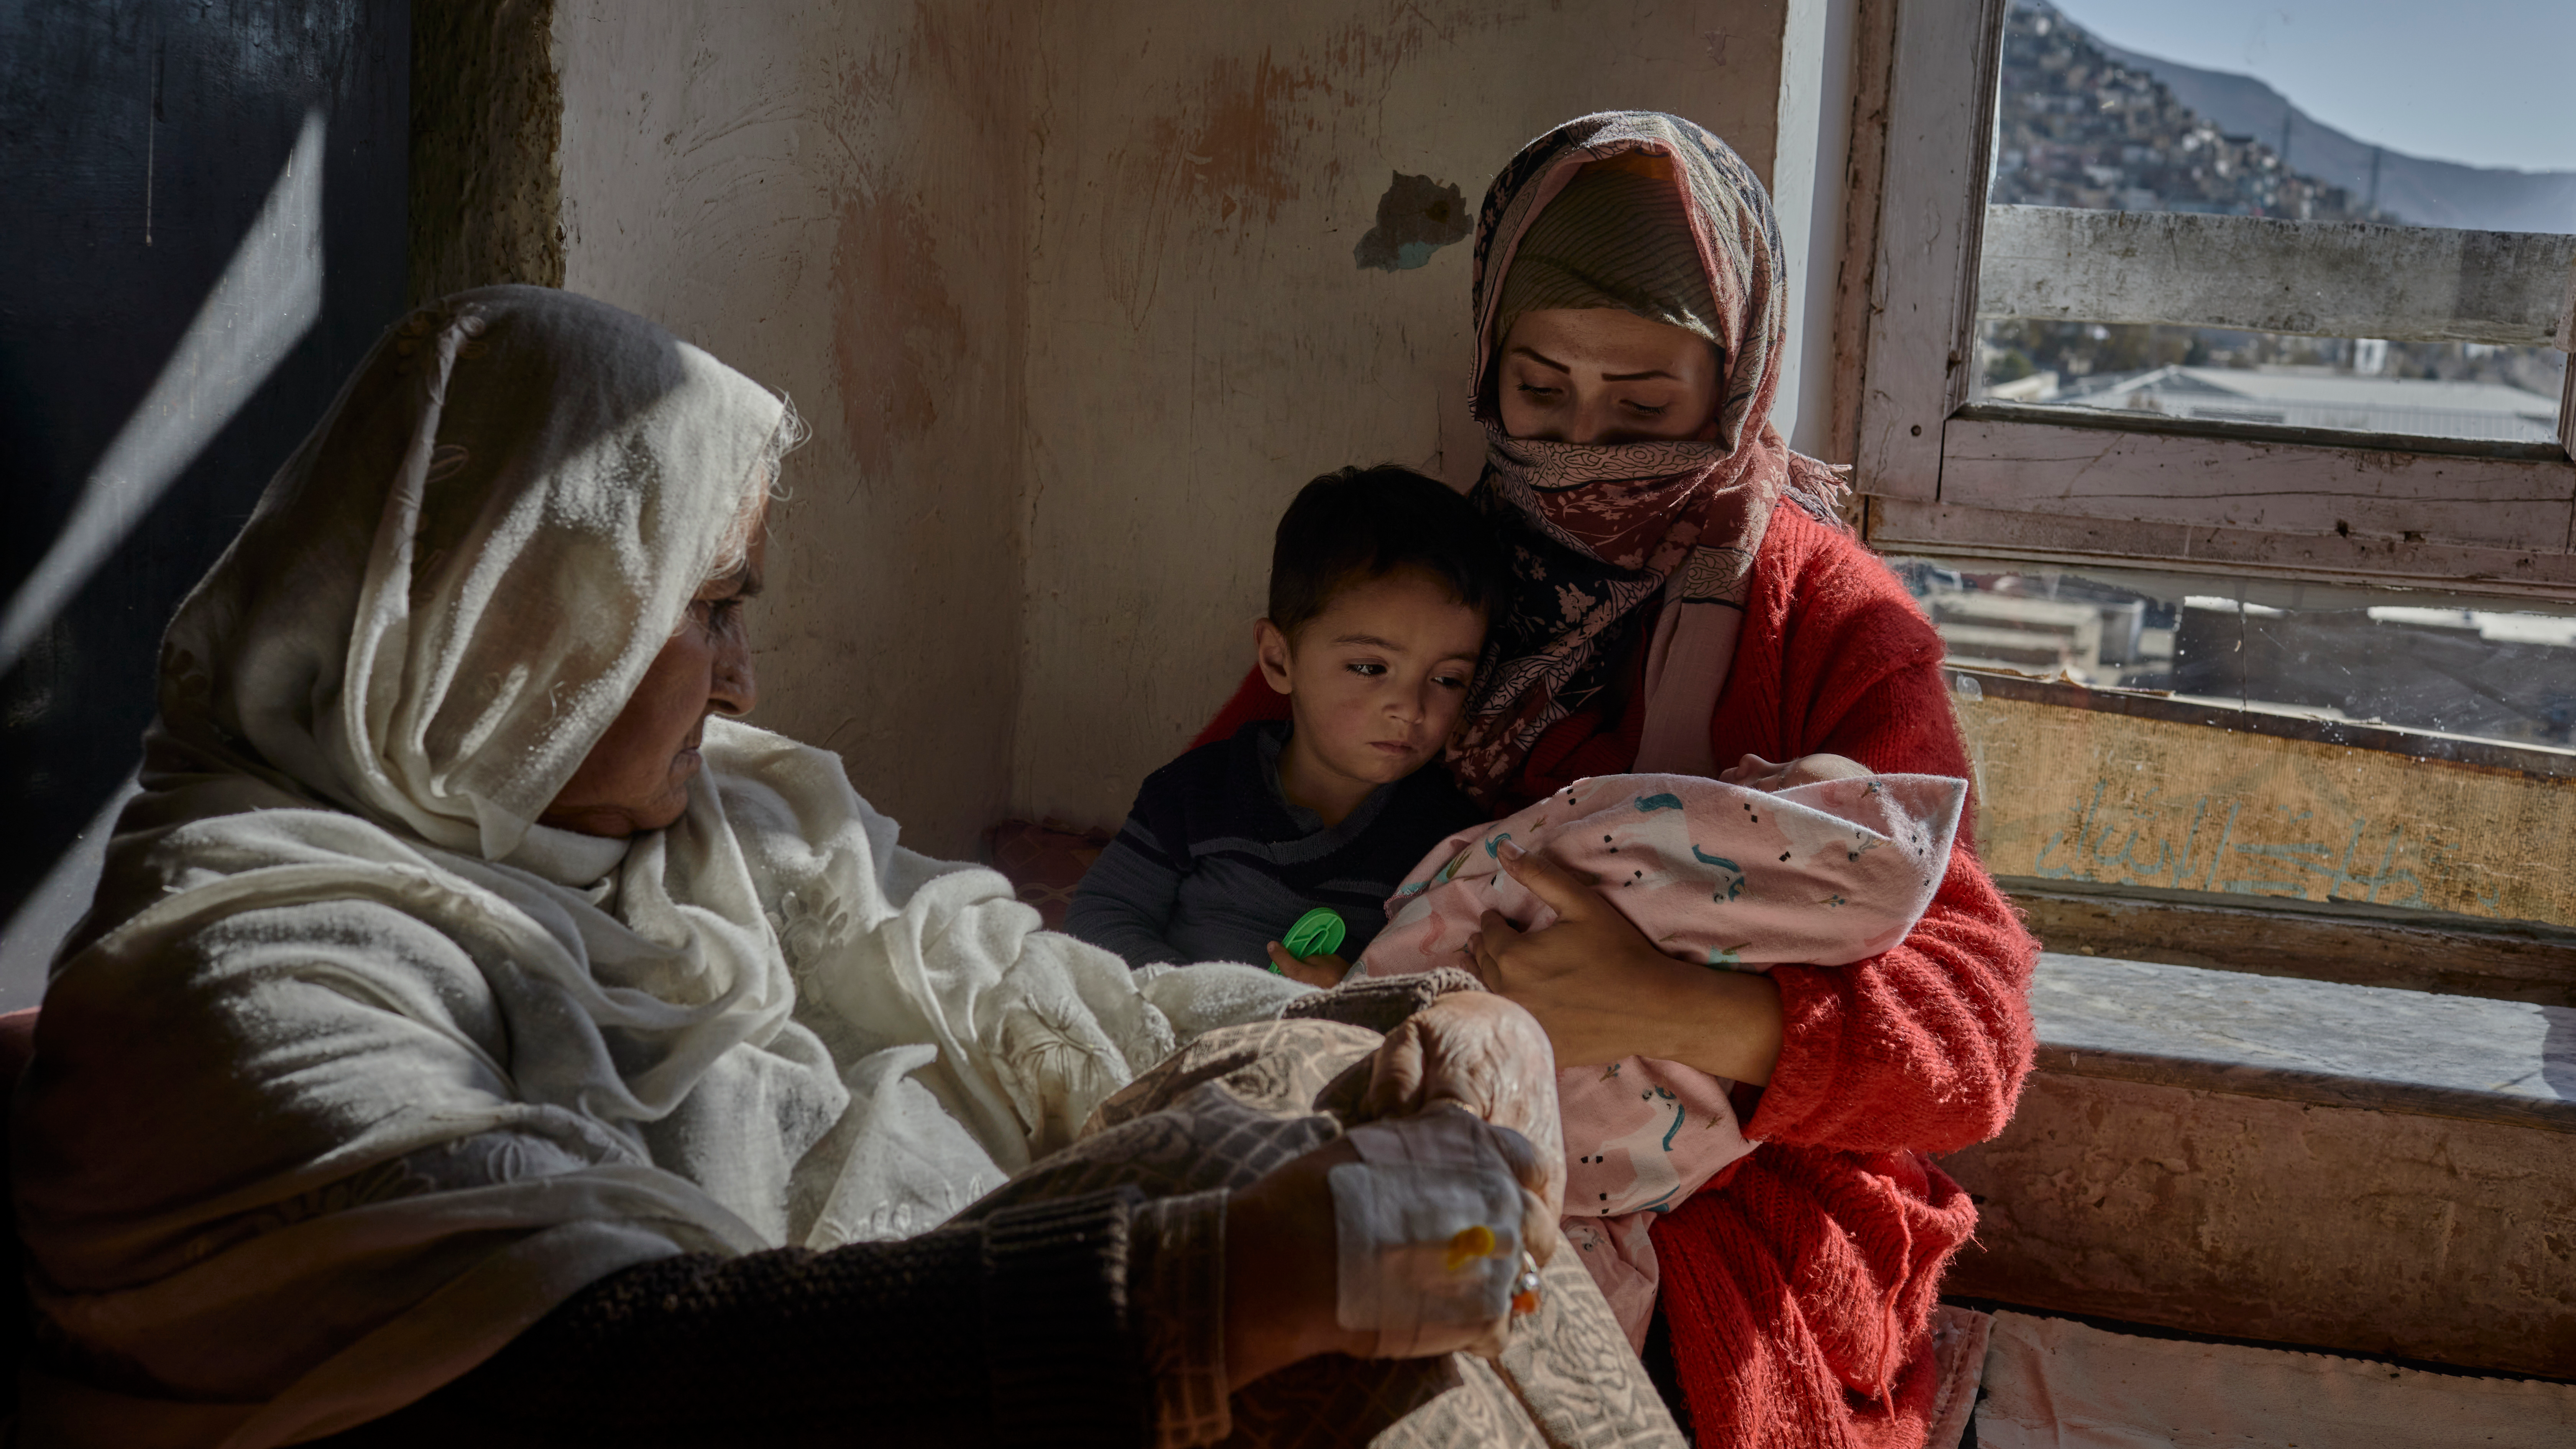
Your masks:
{"label": "dark wall at far left including its slanted sunlight streak", "polygon": [[62,856],[106,843],[162,624],[402,307],[407,77],[402,0],[0,10],[0,175],[31,180],[0,229],[0,1008],[88,902]]}

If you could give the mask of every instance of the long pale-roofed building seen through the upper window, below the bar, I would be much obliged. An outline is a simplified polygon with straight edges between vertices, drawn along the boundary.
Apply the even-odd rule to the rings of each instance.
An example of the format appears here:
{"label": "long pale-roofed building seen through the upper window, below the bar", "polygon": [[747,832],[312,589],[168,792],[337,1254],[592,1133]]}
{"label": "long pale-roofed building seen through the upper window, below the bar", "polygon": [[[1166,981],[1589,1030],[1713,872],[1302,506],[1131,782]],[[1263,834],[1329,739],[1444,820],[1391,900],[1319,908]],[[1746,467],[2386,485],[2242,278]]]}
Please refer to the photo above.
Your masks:
{"label": "long pale-roofed building seen through the upper window, below the bar", "polygon": [[[2385,343],[2380,345],[2385,348]],[[2084,379],[2050,402],[2208,423],[2277,423],[2352,433],[2524,443],[2545,443],[2558,436],[2558,400],[2540,392],[2501,382],[2354,376],[2324,369],[2159,366],[2128,376]]]}

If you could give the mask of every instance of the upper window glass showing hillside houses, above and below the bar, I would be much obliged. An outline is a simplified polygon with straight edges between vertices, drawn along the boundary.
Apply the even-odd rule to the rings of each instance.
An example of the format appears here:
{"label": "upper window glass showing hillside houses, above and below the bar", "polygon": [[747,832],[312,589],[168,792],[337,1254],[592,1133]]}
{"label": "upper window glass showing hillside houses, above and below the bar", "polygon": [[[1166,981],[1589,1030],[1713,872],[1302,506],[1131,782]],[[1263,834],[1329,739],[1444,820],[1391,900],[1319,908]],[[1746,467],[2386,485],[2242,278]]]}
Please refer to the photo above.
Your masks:
{"label": "upper window glass showing hillside houses, above and below the bar", "polygon": [[[2527,101],[2494,95],[2512,88],[2496,57],[2517,44],[2566,54],[2576,8],[2491,0],[2476,10],[2470,26],[2442,8],[2378,0],[2254,10],[2197,0],[2063,8],[2014,0],[1986,199],[2076,211],[2576,232],[2568,101],[2576,88],[2537,85]],[[2476,28],[2491,57],[2483,85],[2468,80],[2476,70],[2465,59],[2452,62],[2460,28]],[[2406,46],[2424,64],[2403,95],[2378,93],[2378,72],[2352,70],[2357,54],[2406,54]],[[2473,93],[2445,95],[2460,88]],[[2419,111],[2455,116],[2447,129],[2427,131]],[[1989,271],[2002,232],[1989,222]],[[2190,273],[2226,268],[2231,255],[2159,253],[2123,266]],[[2555,345],[2087,320],[2081,304],[2097,286],[2069,276],[2066,304],[2076,315],[2048,320],[1989,315],[1996,304],[1989,286],[1973,397],[2210,428],[2519,443],[2561,436],[2566,353]],[[2336,284],[2321,276],[2318,286]],[[2421,317],[2391,322],[2424,330]]]}

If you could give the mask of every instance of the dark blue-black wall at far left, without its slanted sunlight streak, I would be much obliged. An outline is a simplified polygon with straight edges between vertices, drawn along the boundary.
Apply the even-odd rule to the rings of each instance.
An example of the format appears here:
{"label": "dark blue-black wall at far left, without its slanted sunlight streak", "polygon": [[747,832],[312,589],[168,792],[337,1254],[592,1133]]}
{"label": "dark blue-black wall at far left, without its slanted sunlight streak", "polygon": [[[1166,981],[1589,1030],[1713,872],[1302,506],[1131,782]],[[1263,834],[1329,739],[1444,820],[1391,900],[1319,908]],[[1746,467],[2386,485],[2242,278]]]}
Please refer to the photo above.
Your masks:
{"label": "dark blue-black wall at far left, without its slanted sunlight streak", "polygon": [[173,606],[402,307],[407,36],[404,0],[0,0],[0,601],[325,121],[319,322],[0,676],[0,920],[134,768]]}

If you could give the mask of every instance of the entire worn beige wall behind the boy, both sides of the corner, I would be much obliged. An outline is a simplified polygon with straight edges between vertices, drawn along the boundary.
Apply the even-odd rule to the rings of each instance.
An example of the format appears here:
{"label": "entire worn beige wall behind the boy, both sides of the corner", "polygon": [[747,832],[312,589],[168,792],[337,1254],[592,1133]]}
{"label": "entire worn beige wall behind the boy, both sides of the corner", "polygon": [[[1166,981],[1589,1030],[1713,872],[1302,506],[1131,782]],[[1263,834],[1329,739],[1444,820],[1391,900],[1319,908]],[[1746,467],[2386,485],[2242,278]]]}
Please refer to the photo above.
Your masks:
{"label": "entire worn beige wall behind the boy, both sides of the corner", "polygon": [[1767,178],[1819,124],[1790,8],[1839,3],[556,0],[564,286],[814,425],[760,722],[930,851],[1113,825],[1249,663],[1306,477],[1473,477],[1468,245],[1352,258],[1391,173],[1473,209],[1546,126],[1649,106]]}

